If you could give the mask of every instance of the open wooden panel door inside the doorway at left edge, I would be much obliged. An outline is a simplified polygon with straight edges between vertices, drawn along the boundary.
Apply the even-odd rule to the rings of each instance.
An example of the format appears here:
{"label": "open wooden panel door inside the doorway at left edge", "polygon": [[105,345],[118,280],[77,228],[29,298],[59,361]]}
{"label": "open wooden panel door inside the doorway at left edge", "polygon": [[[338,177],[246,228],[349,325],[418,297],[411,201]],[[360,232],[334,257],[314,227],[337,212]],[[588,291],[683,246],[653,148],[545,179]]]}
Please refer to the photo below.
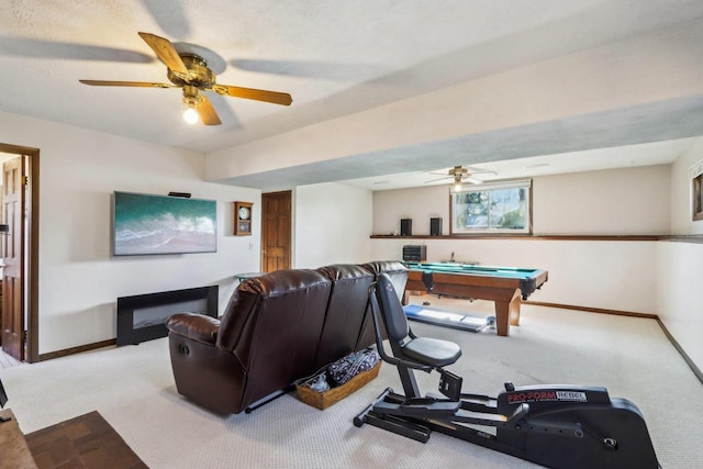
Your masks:
{"label": "open wooden panel door inside the doorway at left edge", "polygon": [[2,165],[2,223],[10,225],[2,236],[2,349],[24,360],[24,211],[26,156]]}

